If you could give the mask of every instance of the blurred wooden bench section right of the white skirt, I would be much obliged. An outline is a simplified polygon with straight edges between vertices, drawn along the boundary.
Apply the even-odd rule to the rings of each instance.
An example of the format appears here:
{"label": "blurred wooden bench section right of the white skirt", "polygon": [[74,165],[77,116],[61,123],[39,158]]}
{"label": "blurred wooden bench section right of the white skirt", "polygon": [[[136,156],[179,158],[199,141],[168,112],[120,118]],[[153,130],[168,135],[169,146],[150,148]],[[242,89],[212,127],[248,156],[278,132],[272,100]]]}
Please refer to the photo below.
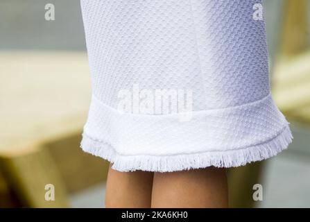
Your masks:
{"label": "blurred wooden bench section right of the white skirt", "polygon": [[273,96],[286,117],[310,123],[309,1],[286,1]]}

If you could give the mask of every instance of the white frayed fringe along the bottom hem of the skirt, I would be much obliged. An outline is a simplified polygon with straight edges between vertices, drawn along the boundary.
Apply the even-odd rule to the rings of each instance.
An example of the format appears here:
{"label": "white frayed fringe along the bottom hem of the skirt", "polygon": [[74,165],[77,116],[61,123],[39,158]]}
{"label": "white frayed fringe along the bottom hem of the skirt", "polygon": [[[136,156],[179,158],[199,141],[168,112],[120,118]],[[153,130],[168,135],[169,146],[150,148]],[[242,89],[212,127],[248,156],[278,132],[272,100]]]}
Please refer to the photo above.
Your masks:
{"label": "white frayed fringe along the bottom hem of the skirt", "polygon": [[250,162],[266,160],[283,151],[292,142],[289,126],[273,139],[248,148],[231,151],[207,151],[182,155],[121,155],[105,142],[83,134],[80,147],[83,151],[103,157],[112,162],[112,169],[117,171],[155,171],[171,172],[205,167],[239,167]]}

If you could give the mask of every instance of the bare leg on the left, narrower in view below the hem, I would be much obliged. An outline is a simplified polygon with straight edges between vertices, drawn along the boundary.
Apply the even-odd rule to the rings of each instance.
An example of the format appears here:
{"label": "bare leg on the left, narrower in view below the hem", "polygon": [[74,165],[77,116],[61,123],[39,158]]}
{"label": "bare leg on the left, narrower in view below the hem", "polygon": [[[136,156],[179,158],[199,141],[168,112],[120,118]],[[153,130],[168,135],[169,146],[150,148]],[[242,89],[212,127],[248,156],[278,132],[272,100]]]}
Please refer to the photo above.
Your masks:
{"label": "bare leg on the left, narrower in view below the hem", "polygon": [[109,169],[105,207],[150,207],[153,173],[119,172]]}

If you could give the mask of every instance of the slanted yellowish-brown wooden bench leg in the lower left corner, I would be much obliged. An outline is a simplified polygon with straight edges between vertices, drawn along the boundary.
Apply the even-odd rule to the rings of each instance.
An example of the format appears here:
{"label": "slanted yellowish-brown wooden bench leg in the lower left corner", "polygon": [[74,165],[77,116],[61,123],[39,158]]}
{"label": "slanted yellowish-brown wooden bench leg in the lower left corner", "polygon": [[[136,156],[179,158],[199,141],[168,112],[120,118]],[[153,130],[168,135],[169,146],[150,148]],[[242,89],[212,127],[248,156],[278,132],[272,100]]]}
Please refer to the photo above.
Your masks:
{"label": "slanted yellowish-brown wooden bench leg in the lower left corner", "polygon": [[[49,151],[33,146],[23,155],[0,157],[8,184],[24,207],[68,207],[67,191]],[[55,187],[55,200],[46,200],[46,185]]]}

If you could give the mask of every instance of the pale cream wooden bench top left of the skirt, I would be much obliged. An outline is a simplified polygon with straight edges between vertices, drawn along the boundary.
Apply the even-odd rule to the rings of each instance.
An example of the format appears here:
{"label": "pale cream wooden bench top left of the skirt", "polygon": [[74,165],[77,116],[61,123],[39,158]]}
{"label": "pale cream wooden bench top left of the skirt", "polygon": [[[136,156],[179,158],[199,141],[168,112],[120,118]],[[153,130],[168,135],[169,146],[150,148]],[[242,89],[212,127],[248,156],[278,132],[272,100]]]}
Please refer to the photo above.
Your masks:
{"label": "pale cream wooden bench top left of the skirt", "polygon": [[83,128],[91,99],[85,52],[1,51],[0,60],[0,155]]}

